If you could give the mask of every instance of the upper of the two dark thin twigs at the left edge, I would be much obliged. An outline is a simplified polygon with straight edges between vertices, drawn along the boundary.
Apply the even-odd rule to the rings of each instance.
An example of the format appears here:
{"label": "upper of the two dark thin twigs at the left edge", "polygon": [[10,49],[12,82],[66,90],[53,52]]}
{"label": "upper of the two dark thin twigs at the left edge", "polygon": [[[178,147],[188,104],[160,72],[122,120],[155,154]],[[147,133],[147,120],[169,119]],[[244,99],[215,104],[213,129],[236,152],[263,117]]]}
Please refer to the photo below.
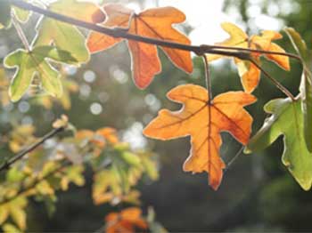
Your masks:
{"label": "upper of the two dark thin twigs at the left edge", "polygon": [[53,131],[51,131],[50,133],[45,134],[43,138],[41,138],[39,141],[29,146],[29,148],[22,150],[16,156],[5,161],[4,164],[0,166],[0,172],[10,169],[11,165],[13,165],[15,162],[20,160],[22,157],[25,157],[27,154],[29,154],[29,152],[33,151],[34,149],[37,149],[37,147],[43,144],[46,140],[52,138],[57,133],[61,133],[63,130],[64,128],[60,127],[60,128],[53,129]]}

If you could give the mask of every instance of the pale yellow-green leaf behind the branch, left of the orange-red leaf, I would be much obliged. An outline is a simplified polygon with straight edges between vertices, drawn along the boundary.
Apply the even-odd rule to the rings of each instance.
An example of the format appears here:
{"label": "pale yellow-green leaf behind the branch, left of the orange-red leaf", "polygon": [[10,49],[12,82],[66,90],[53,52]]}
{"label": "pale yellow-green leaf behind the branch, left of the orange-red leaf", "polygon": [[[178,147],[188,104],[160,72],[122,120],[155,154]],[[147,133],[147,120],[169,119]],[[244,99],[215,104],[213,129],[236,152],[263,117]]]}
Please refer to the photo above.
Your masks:
{"label": "pale yellow-green leaf behind the branch, left of the orange-red leaf", "polygon": [[[105,14],[96,4],[77,2],[75,0],[62,0],[49,5],[49,10],[64,14],[68,17],[98,23],[105,19]],[[86,48],[86,38],[76,28],[67,23],[44,17],[37,24],[36,45],[55,44],[62,50],[68,51],[78,60],[85,63],[90,55]]]}

